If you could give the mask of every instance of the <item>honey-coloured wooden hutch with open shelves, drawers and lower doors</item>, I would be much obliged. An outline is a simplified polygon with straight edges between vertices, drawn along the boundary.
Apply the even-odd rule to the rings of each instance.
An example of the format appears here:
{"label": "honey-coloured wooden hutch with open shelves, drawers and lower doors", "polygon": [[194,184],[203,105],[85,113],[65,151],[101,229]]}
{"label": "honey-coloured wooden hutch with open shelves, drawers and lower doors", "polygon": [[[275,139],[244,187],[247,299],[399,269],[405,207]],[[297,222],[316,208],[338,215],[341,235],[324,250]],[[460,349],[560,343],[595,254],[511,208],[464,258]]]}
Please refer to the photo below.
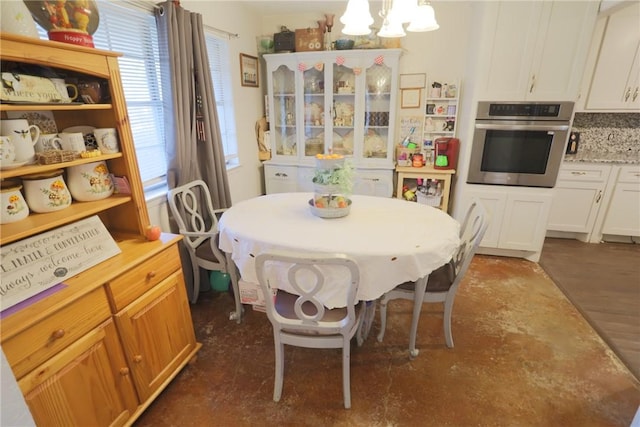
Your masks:
{"label": "honey-coloured wooden hutch with open shelves, drawers and lower doors", "polygon": [[[120,253],[65,279],[45,298],[3,313],[3,352],[38,425],[130,425],[201,344],[193,323],[177,245],[180,236],[147,241],[147,206],[118,68],[119,54],[0,34],[3,71],[11,63],[46,66],[64,76],[108,82],[108,104],[0,104],[8,114],[52,111],[58,128],[116,128],[120,152],[0,171],[0,179],[104,160],[131,192],[74,201],[0,225],[0,244],[18,243],[98,215]],[[0,280],[2,277],[0,277]],[[3,286],[5,284],[3,283]]]}

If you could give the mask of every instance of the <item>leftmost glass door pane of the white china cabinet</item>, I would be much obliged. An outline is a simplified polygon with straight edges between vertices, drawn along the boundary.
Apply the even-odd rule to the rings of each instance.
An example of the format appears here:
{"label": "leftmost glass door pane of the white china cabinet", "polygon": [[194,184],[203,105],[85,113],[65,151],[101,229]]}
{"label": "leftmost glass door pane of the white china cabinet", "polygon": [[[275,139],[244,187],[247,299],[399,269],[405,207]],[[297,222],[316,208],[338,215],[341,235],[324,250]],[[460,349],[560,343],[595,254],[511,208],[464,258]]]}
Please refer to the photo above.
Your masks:
{"label": "leftmost glass door pane of the white china cabinet", "polygon": [[273,119],[271,123],[276,153],[295,156],[296,144],[296,98],[295,72],[281,65],[272,73]]}

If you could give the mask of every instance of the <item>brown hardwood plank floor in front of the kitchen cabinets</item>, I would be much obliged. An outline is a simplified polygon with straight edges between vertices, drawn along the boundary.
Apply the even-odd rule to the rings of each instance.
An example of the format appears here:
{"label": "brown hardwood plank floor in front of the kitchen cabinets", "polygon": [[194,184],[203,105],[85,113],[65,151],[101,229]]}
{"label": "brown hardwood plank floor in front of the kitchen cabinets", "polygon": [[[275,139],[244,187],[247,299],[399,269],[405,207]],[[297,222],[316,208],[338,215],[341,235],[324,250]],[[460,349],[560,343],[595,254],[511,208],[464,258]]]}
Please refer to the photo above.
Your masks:
{"label": "brown hardwood plank floor in front of the kitchen cabinets", "polygon": [[640,245],[547,238],[540,266],[640,379]]}

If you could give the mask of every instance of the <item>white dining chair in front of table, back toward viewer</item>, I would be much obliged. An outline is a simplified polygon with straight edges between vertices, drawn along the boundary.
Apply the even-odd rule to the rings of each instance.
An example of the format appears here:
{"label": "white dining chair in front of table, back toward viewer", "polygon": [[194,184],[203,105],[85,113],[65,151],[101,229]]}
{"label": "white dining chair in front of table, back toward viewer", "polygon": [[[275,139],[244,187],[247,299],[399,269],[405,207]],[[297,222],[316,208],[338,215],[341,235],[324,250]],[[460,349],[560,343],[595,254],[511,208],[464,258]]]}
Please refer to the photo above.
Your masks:
{"label": "white dining chair in front of table, back toward viewer", "polygon": [[[318,299],[327,280],[323,269],[331,269],[332,277],[344,280],[345,307],[328,309]],[[349,409],[351,339],[364,311],[364,303],[356,301],[360,283],[356,262],[340,254],[272,252],[256,257],[256,273],[264,295],[275,292],[273,298],[265,298],[275,344],[273,400],[278,402],[282,396],[285,344],[318,349],[342,348],[342,392],[344,407]],[[277,289],[285,284],[297,295]]]}

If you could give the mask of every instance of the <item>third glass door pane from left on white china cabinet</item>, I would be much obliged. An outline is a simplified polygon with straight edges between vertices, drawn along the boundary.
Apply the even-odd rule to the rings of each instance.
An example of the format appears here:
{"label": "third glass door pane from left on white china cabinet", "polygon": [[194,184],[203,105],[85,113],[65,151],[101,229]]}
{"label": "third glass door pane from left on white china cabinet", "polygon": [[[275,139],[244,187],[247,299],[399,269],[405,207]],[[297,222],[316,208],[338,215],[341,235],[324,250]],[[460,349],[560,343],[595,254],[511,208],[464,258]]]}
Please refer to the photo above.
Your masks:
{"label": "third glass door pane from left on white china cabinet", "polygon": [[352,68],[333,64],[333,106],[331,119],[334,153],[353,155],[353,125],[356,75]]}

